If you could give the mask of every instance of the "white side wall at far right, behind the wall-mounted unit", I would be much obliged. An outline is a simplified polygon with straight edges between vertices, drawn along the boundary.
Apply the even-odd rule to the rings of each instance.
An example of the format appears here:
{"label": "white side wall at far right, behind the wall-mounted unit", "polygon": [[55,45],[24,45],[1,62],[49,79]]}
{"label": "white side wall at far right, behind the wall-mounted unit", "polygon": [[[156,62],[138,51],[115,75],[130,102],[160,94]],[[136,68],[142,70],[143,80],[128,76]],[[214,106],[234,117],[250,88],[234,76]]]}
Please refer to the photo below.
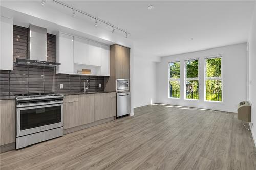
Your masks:
{"label": "white side wall at far right, behind the wall-mounted unit", "polygon": [[249,96],[248,99],[252,104],[251,110],[251,133],[254,139],[254,143],[256,145],[256,2],[254,7],[254,14],[250,29],[250,34],[248,38],[249,44]]}

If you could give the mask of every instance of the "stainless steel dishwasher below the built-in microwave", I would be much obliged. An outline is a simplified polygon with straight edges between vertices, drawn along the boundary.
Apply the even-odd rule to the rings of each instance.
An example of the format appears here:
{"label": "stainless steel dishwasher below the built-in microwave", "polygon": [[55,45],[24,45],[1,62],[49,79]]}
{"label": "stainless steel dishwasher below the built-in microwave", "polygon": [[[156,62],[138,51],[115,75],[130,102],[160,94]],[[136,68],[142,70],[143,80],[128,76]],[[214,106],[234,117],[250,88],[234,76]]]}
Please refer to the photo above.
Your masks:
{"label": "stainless steel dishwasher below the built-in microwave", "polygon": [[130,114],[130,92],[117,93],[117,113],[116,116]]}

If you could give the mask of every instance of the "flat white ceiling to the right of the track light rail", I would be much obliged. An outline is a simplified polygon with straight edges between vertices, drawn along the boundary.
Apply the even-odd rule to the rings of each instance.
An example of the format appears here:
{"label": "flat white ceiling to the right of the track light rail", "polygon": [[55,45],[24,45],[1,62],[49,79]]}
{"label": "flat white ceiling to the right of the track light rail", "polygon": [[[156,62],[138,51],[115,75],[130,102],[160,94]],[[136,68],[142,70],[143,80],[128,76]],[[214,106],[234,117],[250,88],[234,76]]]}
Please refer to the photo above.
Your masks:
{"label": "flat white ceiling to the right of the track light rail", "polygon": [[[254,1],[62,2],[131,32],[140,57],[246,42],[254,7]],[[155,9],[148,10],[148,5]]]}

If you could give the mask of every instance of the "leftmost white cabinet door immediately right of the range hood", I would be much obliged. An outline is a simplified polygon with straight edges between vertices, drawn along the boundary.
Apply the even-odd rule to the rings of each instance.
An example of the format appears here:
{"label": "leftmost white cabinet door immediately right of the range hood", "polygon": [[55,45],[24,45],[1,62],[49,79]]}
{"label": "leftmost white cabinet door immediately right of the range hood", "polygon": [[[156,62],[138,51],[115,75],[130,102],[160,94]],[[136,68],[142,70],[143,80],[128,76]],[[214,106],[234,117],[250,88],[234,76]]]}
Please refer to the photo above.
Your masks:
{"label": "leftmost white cabinet door immediately right of the range hood", "polygon": [[59,33],[56,38],[56,73],[74,73],[74,37]]}

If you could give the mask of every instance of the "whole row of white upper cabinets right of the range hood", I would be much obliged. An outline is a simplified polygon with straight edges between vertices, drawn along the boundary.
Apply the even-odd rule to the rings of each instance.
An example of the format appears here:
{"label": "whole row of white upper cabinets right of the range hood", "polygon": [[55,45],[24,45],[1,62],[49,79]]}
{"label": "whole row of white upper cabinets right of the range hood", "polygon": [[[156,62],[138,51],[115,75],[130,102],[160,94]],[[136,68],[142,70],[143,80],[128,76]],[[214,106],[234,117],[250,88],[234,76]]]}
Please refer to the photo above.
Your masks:
{"label": "whole row of white upper cabinets right of the range hood", "polygon": [[110,76],[110,46],[65,33],[56,36],[56,73]]}

